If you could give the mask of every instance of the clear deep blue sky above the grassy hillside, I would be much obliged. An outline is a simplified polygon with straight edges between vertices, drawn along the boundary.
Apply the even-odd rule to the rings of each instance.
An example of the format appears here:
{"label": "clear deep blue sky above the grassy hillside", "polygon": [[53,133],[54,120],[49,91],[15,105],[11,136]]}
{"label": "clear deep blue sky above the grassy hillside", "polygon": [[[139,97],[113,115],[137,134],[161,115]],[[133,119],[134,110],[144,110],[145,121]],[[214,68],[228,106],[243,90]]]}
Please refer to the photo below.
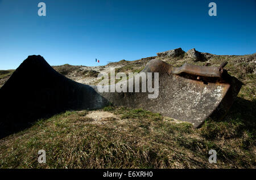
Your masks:
{"label": "clear deep blue sky above the grassy hillside", "polygon": [[[46,16],[38,16],[39,2]],[[217,16],[208,15],[210,2]],[[32,54],[50,65],[96,66],[179,47],[255,53],[255,0],[0,0],[1,70]]]}

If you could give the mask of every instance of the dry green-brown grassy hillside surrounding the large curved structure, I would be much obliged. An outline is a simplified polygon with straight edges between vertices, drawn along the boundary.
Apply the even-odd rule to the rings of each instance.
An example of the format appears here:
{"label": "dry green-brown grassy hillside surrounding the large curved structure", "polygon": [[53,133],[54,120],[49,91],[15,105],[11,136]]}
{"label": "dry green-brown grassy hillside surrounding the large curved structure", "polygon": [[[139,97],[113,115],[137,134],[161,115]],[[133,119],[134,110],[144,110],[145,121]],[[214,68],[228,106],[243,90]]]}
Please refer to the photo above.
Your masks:
{"label": "dry green-brown grassy hillside surrounding the large curved structure", "polygon": [[[206,63],[187,57],[163,60],[173,66]],[[120,65],[120,72],[135,72],[148,61],[106,67]],[[210,54],[207,59],[210,66],[223,61],[228,61],[229,74],[245,84],[224,119],[208,118],[203,127],[193,129],[190,123],[142,109],[68,111],[1,139],[0,168],[256,168],[256,54]],[[64,66],[69,78],[80,76],[73,66]],[[95,112],[102,116],[92,115]],[[37,161],[39,149],[46,150],[46,164]],[[217,151],[217,164],[208,162],[210,149]]]}

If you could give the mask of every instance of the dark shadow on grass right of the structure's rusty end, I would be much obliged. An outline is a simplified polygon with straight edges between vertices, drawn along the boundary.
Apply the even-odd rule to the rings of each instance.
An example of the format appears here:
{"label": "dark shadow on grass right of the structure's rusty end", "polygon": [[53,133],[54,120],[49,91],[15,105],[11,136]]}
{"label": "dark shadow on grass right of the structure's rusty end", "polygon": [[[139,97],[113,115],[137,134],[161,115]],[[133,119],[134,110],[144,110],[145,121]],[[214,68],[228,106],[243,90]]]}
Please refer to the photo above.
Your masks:
{"label": "dark shadow on grass right of the structure's rusty end", "polygon": [[255,137],[255,99],[248,101],[237,97],[224,119],[210,119],[201,128],[207,139],[241,138],[247,134],[253,141]]}

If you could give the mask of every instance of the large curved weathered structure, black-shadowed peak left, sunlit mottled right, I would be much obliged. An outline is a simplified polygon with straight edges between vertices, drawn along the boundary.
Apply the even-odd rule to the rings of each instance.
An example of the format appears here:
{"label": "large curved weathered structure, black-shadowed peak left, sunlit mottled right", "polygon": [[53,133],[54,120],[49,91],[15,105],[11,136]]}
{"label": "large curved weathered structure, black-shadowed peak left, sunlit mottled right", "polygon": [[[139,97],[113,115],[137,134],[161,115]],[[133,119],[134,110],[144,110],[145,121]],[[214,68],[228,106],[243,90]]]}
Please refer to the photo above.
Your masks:
{"label": "large curved weathered structure, black-shadowed peak left, sunlit mottled right", "polygon": [[0,137],[17,131],[24,124],[27,127],[39,118],[65,110],[98,109],[108,105],[109,101],[162,113],[199,127],[209,115],[225,115],[241,88],[241,82],[236,78],[228,74],[218,75],[222,69],[213,68],[217,71],[214,73],[217,76],[213,77],[191,71],[193,78],[179,70],[152,59],[143,72],[159,72],[159,96],[149,99],[151,93],[141,90],[140,93],[99,93],[97,86],[65,78],[43,57],[31,55],[0,89]]}

